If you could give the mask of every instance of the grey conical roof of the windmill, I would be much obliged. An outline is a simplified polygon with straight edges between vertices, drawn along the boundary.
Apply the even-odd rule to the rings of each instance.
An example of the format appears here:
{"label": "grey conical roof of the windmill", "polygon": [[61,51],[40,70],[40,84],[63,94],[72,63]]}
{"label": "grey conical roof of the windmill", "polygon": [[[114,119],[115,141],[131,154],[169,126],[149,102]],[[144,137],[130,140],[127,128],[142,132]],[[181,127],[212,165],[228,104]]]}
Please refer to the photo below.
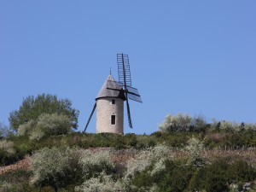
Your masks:
{"label": "grey conical roof of the windmill", "polygon": [[104,97],[122,98],[125,100],[125,94],[122,90],[122,86],[113,79],[112,74],[108,75],[105,83],[102,85],[102,89],[96,96],[96,100]]}

